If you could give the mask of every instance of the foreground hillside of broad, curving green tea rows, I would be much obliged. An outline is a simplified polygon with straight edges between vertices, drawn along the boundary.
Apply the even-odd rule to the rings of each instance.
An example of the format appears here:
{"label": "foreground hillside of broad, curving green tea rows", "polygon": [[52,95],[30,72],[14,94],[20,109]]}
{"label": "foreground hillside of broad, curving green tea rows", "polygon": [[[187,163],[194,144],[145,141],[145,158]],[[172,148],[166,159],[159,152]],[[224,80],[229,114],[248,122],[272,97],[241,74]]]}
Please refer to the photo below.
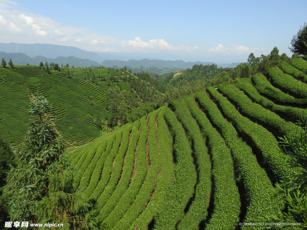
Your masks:
{"label": "foreground hillside of broad, curving green tea rows", "polygon": [[293,172],[278,137],[301,132],[307,62],[210,87],[70,153],[101,229],[259,229]]}

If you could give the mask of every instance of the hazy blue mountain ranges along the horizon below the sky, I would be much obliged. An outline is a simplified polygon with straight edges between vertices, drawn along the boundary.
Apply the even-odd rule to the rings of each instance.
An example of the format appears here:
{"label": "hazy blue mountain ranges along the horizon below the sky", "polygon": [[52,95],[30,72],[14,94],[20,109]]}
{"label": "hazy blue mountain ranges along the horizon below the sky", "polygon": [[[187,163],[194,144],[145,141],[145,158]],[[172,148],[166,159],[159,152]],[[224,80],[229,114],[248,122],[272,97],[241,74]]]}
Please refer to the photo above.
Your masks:
{"label": "hazy blue mountain ranges along the horizon below the sky", "polygon": [[[1,52],[2,51],[2,52]],[[211,65],[213,62],[184,62],[182,60],[157,60],[148,56],[158,57],[158,53],[118,53],[115,52],[91,52],[73,46],[52,44],[18,44],[0,43],[1,58],[12,59],[17,65],[37,65],[41,61],[58,63],[74,67],[89,67],[103,65],[105,67],[169,67],[192,68],[194,64]],[[170,55],[170,54],[169,54]],[[240,63],[223,63],[218,67],[236,67]]]}

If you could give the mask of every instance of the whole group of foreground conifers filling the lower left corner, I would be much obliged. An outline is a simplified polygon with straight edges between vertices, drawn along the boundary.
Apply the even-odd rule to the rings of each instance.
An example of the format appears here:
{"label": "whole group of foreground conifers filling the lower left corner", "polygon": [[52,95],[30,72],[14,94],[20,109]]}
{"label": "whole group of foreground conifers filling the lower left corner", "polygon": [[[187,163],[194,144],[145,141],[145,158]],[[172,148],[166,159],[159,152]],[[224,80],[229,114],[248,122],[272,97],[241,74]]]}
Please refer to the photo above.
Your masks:
{"label": "whole group of foreground conifers filling the lower left corner", "polygon": [[76,169],[68,163],[50,109],[42,96],[32,98],[29,129],[15,158],[0,141],[1,173],[6,174],[2,177],[6,176],[6,185],[0,198],[1,223],[29,221],[30,227],[54,222],[63,223],[67,230],[96,229],[92,203],[74,187]]}

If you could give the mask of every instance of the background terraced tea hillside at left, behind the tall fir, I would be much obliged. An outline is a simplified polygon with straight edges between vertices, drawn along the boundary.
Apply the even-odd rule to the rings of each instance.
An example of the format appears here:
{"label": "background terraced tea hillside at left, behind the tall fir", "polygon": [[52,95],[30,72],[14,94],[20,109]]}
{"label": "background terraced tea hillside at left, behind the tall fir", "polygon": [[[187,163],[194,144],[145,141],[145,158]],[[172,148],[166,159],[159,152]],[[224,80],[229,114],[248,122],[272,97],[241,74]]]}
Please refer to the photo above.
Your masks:
{"label": "background terraced tea hillside at left, behind the tall fir", "polygon": [[[0,71],[0,132],[8,142],[20,143],[27,132],[27,110],[37,91],[54,108],[56,128],[71,144],[84,144],[109,129],[101,129],[100,117],[108,118],[105,90],[64,73],[49,75],[45,68],[27,66]],[[95,119],[96,118],[96,119]]]}

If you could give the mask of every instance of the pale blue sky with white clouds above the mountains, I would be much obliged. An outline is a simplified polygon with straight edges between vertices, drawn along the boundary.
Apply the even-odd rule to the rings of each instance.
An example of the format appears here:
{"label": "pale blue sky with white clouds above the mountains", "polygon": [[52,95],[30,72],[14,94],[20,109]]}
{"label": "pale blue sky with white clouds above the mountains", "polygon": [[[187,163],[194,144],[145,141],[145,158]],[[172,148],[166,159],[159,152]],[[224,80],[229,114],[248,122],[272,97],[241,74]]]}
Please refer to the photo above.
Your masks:
{"label": "pale blue sky with white clouds above the mountains", "polygon": [[306,0],[0,0],[0,42],[241,62],[274,46],[290,56],[292,36],[307,22],[306,9]]}

